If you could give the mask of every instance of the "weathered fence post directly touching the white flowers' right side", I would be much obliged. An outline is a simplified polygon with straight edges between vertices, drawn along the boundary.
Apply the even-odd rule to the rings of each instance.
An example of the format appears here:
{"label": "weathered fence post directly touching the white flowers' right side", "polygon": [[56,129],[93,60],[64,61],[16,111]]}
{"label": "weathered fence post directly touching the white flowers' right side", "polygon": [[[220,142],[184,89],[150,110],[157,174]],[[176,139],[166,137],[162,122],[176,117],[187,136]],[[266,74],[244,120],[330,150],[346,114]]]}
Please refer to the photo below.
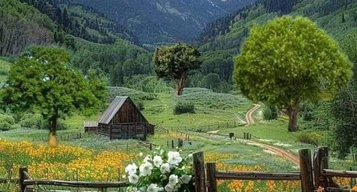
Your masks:
{"label": "weathered fence post directly touching the white flowers' right side", "polygon": [[194,178],[196,192],[206,192],[205,159],[203,152],[194,153]]}

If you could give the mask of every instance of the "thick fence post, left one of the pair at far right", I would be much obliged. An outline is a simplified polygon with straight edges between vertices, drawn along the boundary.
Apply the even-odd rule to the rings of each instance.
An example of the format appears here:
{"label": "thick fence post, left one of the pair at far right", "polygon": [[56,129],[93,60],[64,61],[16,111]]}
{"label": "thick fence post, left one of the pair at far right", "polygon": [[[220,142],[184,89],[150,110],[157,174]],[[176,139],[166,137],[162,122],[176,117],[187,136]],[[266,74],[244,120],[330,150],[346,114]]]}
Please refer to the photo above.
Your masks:
{"label": "thick fence post, left one of the pair at far right", "polygon": [[312,158],[310,149],[299,150],[301,191],[314,192],[314,177],[312,176]]}

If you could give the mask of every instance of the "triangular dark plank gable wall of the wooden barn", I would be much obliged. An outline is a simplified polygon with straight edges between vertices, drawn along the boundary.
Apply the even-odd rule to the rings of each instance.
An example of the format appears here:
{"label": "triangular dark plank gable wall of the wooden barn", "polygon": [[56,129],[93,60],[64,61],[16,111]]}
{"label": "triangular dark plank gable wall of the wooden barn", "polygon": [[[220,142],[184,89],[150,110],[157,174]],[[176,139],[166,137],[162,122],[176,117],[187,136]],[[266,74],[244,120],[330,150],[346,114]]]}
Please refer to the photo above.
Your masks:
{"label": "triangular dark plank gable wall of the wooden barn", "polygon": [[120,108],[111,120],[113,124],[119,123],[147,123],[148,121],[141,115],[141,112],[137,109],[135,104],[126,99],[122,108]]}

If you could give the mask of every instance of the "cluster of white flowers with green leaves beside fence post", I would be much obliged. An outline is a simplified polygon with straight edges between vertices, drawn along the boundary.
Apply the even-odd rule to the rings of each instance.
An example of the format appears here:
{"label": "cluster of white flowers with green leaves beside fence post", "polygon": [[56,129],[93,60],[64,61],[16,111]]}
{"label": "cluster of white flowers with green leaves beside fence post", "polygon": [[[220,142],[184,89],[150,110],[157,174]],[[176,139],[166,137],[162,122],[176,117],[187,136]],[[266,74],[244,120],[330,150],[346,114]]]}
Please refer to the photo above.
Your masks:
{"label": "cluster of white flowers with green leaves beside fence post", "polygon": [[139,167],[133,163],[125,171],[130,182],[127,191],[194,191],[192,154],[182,158],[179,152],[158,149],[146,156]]}

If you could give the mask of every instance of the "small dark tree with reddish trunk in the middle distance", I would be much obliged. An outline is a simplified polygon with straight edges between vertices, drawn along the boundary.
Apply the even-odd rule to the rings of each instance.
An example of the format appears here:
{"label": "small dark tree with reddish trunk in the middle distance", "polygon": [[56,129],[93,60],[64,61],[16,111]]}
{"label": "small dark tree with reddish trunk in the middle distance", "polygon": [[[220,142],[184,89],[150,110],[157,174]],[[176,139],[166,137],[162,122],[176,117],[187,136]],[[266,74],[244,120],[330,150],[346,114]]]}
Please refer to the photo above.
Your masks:
{"label": "small dark tree with reddish trunk in the middle distance", "polygon": [[171,77],[176,87],[176,95],[181,95],[189,71],[199,69],[200,51],[191,45],[176,44],[159,47],[154,54],[155,72],[159,77]]}

